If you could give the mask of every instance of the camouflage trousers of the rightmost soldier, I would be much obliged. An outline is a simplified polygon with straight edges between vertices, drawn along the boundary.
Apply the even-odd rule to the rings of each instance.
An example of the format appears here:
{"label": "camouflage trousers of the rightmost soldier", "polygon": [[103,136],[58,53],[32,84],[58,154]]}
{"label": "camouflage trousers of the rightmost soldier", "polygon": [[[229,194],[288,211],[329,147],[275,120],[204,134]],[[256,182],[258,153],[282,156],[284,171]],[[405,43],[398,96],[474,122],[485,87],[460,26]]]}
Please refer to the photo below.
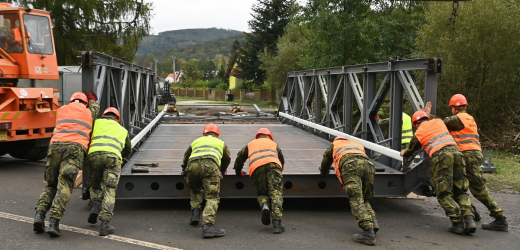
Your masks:
{"label": "camouflage trousers of the rightmost soldier", "polygon": [[477,200],[482,202],[489,209],[491,217],[505,217],[504,211],[495,202],[489,190],[486,187],[486,178],[482,173],[482,152],[478,150],[463,151],[464,160],[466,162],[466,175],[469,180],[469,191]]}

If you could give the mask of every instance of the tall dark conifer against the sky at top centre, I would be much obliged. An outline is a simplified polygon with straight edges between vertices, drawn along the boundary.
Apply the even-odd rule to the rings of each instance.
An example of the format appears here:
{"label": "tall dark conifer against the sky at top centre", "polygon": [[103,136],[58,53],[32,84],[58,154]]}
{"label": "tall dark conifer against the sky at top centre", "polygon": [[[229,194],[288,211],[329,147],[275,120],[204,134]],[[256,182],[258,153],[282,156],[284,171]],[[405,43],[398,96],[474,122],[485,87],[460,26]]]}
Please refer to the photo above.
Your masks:
{"label": "tall dark conifer against the sky at top centre", "polygon": [[246,34],[238,56],[240,78],[257,86],[263,84],[265,71],[260,68],[258,54],[266,49],[276,55],[276,42],[289,23],[293,5],[294,0],[259,0],[253,5],[253,19],[248,22],[252,32]]}

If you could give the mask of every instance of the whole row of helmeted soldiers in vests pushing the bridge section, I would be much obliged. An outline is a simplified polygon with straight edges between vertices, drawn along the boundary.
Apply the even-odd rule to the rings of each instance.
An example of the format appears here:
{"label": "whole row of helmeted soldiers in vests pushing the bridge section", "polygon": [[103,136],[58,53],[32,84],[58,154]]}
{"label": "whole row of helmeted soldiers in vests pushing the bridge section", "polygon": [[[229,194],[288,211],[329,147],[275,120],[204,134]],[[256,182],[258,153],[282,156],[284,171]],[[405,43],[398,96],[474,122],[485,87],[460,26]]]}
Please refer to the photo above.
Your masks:
{"label": "whole row of helmeted soldiers in vests pushing the bridge section", "polygon": [[[99,216],[99,235],[114,233],[114,227],[109,222],[113,216],[115,190],[122,159],[130,155],[131,143],[128,132],[119,125],[117,109],[108,108],[103,118],[96,120],[99,112],[96,100],[95,93],[89,93],[87,100],[84,93],[77,92],[71,97],[69,105],[58,109],[45,171],[48,184],[36,205],[34,231],[45,230],[45,215],[50,210],[47,233],[60,236],[59,220],[86,154],[92,208],[88,222],[97,223]],[[439,204],[452,222],[450,232],[471,234],[476,231],[475,221],[481,217],[471,203],[468,189],[494,218],[493,222],[482,224],[482,228],[508,231],[504,212],[486,188],[486,179],[480,167],[483,156],[477,125],[473,117],[466,113],[467,100],[457,94],[451,98],[449,105],[453,116],[444,121],[429,114],[429,102],[424,110],[414,113],[412,122],[406,121],[407,117],[410,118],[403,115],[401,156],[406,162],[411,160],[409,158],[415,151],[423,149],[431,158],[431,184]],[[94,120],[96,122],[92,129]],[[415,134],[408,127],[411,125],[417,128]],[[203,238],[226,234],[224,229],[214,227],[220,202],[220,180],[227,173],[231,162],[229,149],[219,136],[217,125],[206,125],[202,136],[195,139],[186,150],[181,166],[182,175],[190,188],[190,224],[198,225],[202,215]],[[282,171],[285,161],[269,129],[259,129],[255,139],[238,152],[233,168],[237,176],[245,176],[242,169],[247,159],[249,176],[258,195],[262,224],[272,223],[272,232],[282,233]],[[349,198],[352,214],[363,230],[361,234],[354,234],[353,240],[375,245],[379,225],[369,203],[374,196],[374,164],[361,144],[338,136],[323,154],[320,174],[328,175],[331,165]],[[204,208],[201,205],[203,197],[206,199]]]}

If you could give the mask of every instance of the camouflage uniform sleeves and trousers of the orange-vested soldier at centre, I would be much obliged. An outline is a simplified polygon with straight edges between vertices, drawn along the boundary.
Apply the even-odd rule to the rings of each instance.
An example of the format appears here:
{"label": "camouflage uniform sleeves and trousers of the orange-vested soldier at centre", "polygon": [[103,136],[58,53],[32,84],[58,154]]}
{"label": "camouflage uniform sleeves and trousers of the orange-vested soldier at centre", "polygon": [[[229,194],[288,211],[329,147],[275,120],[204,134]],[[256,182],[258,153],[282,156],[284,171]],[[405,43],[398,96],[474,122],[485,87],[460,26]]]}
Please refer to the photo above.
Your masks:
{"label": "camouflage uniform sleeves and trousers of the orange-vested soldier at centre", "polygon": [[[276,151],[278,151],[278,159],[280,160],[280,163],[282,163],[283,167],[285,160],[282,155],[282,150],[279,147],[276,147]],[[249,149],[247,146],[238,152],[237,158],[235,159],[235,166],[233,167],[237,175],[242,171],[244,162],[247,160],[248,156]],[[262,207],[264,202],[271,204],[271,218],[273,220],[282,220],[283,217],[282,170],[283,169],[277,164],[268,163],[256,168],[251,175],[253,185],[255,186],[258,195],[258,204],[260,207]]]}

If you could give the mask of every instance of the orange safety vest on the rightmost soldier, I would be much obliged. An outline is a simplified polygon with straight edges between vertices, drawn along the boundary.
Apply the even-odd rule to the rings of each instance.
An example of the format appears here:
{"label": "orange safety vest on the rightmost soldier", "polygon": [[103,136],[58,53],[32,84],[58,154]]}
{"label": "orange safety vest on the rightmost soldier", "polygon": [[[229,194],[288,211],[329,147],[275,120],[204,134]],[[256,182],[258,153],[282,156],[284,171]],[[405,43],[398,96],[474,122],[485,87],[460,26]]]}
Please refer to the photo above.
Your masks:
{"label": "orange safety vest on the rightmost soldier", "polygon": [[459,146],[460,151],[478,150],[482,152],[480,147],[480,137],[478,136],[478,128],[473,116],[465,112],[457,113],[464,129],[461,131],[450,131],[451,136]]}

